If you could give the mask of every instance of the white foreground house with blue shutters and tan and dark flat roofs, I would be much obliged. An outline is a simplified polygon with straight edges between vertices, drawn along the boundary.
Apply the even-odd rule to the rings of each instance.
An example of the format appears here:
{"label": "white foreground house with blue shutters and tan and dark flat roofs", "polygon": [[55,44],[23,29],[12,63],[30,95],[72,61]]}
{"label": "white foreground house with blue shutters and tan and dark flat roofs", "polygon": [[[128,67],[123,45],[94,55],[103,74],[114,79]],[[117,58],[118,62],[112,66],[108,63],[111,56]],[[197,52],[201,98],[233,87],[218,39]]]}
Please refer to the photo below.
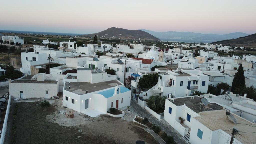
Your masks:
{"label": "white foreground house with blue shutters and tan and dark flat roofs", "polygon": [[[237,121],[226,115],[226,109]],[[239,130],[233,143],[256,143],[255,136],[247,133],[253,132],[256,124],[234,114],[230,107],[216,103],[205,106],[198,96],[166,99],[164,119],[191,144],[229,143],[233,127]]]}

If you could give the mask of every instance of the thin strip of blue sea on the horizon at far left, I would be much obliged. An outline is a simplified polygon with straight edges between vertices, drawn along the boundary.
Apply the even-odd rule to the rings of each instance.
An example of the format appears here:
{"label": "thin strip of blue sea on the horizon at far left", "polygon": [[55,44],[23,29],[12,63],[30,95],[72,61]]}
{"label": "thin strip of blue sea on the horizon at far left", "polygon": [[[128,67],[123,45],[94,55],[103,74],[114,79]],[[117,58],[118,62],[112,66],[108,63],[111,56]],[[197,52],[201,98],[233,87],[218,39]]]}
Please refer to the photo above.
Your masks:
{"label": "thin strip of blue sea on the horizon at far left", "polygon": [[55,33],[55,32],[33,32],[33,31],[20,31],[20,30],[1,30],[0,33],[21,33],[21,34],[42,34],[42,35],[61,35],[61,36],[79,36],[84,34],[74,33]]}

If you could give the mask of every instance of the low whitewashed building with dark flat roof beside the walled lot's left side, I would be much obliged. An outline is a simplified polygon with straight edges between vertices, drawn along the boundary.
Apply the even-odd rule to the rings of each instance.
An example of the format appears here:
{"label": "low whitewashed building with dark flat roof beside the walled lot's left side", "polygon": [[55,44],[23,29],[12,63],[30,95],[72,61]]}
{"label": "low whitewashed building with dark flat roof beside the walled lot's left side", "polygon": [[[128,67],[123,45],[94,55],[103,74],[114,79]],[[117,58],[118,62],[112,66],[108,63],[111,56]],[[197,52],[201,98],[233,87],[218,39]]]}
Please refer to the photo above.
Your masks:
{"label": "low whitewashed building with dark flat roof beside the walled lot's left side", "polygon": [[58,92],[62,91],[60,89],[63,88],[61,75],[40,73],[31,79],[25,78],[12,82],[9,79],[9,92],[13,98],[49,99],[52,96],[57,96]]}

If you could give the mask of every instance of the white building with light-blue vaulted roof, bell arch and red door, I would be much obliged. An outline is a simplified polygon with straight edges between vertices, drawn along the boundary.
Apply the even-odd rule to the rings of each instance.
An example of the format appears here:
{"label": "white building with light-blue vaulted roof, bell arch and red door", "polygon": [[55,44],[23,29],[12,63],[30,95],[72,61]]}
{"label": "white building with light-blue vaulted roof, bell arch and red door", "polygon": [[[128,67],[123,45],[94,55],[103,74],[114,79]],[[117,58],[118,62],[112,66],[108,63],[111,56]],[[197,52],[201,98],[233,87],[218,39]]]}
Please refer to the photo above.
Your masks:
{"label": "white building with light-blue vaulted roof, bell arch and red door", "polygon": [[77,74],[67,74],[64,80],[63,106],[78,112],[95,117],[111,107],[130,106],[131,90],[106,72],[78,68]]}

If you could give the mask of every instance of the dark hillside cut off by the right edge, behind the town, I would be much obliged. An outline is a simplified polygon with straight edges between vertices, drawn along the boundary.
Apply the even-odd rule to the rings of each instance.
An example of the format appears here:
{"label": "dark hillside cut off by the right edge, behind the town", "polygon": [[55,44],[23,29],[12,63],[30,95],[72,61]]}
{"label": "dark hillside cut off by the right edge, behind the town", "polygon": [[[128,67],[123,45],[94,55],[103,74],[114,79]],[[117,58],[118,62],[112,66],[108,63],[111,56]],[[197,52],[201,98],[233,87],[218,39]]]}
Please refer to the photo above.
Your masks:
{"label": "dark hillside cut off by the right edge, behind the town", "polygon": [[247,48],[256,48],[256,34],[249,36],[239,37],[236,39],[226,39],[218,42],[213,42],[212,44],[222,44],[228,46],[243,46]]}

